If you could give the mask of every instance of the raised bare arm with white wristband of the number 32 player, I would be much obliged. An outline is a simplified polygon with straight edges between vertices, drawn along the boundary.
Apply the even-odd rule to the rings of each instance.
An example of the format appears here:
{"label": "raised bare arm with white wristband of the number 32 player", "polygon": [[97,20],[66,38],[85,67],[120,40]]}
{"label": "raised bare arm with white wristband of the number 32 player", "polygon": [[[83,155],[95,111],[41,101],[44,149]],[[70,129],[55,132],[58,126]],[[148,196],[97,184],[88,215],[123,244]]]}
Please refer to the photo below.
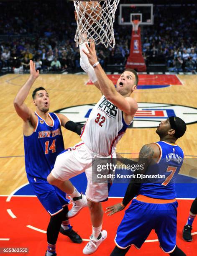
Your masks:
{"label": "raised bare arm with white wristband of the number 32 player", "polygon": [[[105,71],[102,69],[101,65],[97,61],[97,54],[95,51],[95,43],[93,41],[90,42],[90,47],[86,44],[87,51],[83,49],[84,54],[87,55],[90,65],[94,67],[95,74],[97,76],[100,90],[105,95],[106,99],[116,105],[120,110],[122,110],[127,115],[135,115],[138,110],[138,104],[136,100],[134,100],[130,96],[131,90],[133,87],[136,87],[133,84],[133,87],[130,91],[128,91],[128,95],[121,95],[114,87],[113,82],[107,77]],[[128,79],[135,79],[135,76],[131,74],[127,74]],[[125,79],[125,78],[124,78]],[[136,88],[135,88],[136,89]],[[134,90],[135,90],[134,89]]]}

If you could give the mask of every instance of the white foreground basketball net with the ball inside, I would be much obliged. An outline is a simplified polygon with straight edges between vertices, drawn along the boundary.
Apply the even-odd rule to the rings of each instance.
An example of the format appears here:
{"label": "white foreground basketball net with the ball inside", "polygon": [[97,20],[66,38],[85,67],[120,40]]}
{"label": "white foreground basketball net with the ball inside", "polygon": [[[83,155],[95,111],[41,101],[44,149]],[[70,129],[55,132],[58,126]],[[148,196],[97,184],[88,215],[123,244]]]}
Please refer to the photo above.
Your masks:
{"label": "white foreground basketball net with the ball inside", "polygon": [[120,0],[72,1],[77,13],[77,30],[74,37],[76,45],[93,39],[95,44],[113,48],[115,46],[113,23]]}

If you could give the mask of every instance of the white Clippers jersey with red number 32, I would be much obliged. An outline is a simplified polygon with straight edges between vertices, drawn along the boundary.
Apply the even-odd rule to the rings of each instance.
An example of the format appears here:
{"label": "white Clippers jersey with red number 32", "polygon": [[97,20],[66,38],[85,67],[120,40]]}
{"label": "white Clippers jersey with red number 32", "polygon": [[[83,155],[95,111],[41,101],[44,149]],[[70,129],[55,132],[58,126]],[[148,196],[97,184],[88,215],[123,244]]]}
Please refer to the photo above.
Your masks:
{"label": "white Clippers jersey with red number 32", "polygon": [[124,135],[128,125],[123,112],[103,95],[92,109],[81,138],[87,148],[100,156],[109,156]]}

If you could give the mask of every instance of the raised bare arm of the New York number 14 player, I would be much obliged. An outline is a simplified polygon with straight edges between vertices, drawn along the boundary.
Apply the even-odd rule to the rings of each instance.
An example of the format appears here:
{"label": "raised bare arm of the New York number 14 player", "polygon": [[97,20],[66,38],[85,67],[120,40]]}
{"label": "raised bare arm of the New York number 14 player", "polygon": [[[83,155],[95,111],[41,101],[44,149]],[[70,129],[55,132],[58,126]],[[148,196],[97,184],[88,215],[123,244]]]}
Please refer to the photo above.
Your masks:
{"label": "raised bare arm of the New York number 14 player", "polygon": [[30,61],[30,77],[23,85],[23,87],[20,88],[19,92],[17,93],[14,99],[15,110],[17,114],[20,116],[20,118],[23,119],[23,121],[27,121],[28,119],[30,119],[31,115],[33,114],[33,111],[26,106],[24,101],[26,100],[26,97],[28,96],[31,87],[38,78],[38,76],[39,71],[36,71],[35,63],[33,63],[33,61]]}

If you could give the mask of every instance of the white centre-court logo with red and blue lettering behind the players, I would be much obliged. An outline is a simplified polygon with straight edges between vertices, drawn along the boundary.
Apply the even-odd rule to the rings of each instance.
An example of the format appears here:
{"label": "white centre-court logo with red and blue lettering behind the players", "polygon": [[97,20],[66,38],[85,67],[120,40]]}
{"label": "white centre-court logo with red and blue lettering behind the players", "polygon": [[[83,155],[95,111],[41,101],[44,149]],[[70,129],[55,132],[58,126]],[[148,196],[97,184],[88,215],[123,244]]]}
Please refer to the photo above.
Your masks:
{"label": "white centre-court logo with red and blue lettering behind the players", "polygon": [[[78,105],[56,110],[73,122],[84,124],[95,104]],[[197,108],[182,105],[138,102],[133,128],[155,128],[169,116],[178,116],[186,124],[197,123]],[[130,127],[131,128],[131,127]]]}

